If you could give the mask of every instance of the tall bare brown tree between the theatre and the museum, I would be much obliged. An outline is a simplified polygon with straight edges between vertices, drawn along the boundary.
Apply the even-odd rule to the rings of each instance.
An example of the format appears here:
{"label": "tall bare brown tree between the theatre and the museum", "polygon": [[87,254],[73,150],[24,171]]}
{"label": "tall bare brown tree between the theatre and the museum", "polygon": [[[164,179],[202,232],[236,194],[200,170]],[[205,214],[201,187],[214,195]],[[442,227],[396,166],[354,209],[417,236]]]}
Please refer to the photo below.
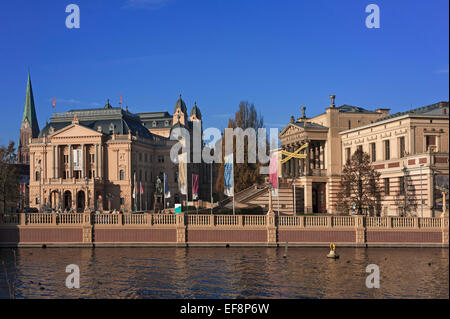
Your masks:
{"label": "tall bare brown tree between the theatre and the museum", "polygon": [[[261,114],[256,112],[256,108],[253,104],[249,104],[247,101],[241,101],[239,103],[239,110],[235,113],[234,119],[228,120],[228,128],[240,127],[242,130],[247,128],[264,127],[264,119]],[[235,137],[234,137],[235,139]],[[236,143],[233,143],[233,152],[236,153]],[[225,137],[222,138],[222,154],[225,157]],[[235,159],[236,160],[236,159]],[[261,184],[264,181],[264,176],[259,174],[259,168],[261,164],[248,163],[248,141],[245,140],[244,145],[244,163],[234,163],[234,192],[237,193],[243,189],[246,189],[254,184]],[[216,190],[223,192],[224,190],[224,177],[223,177],[224,163],[219,167],[219,174],[217,176]]]}

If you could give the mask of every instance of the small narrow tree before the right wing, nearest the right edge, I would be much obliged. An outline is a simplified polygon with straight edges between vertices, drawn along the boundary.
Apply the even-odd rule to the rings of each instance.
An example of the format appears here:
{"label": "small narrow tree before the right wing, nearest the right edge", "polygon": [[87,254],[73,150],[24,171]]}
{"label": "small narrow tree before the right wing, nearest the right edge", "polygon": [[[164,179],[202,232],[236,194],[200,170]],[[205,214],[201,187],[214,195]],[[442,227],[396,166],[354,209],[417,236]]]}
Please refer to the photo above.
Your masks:
{"label": "small narrow tree before the right wing, nearest the right edge", "polygon": [[400,210],[400,216],[415,217],[417,216],[416,188],[406,169],[403,169],[403,174],[399,181],[399,191],[395,196],[395,205]]}

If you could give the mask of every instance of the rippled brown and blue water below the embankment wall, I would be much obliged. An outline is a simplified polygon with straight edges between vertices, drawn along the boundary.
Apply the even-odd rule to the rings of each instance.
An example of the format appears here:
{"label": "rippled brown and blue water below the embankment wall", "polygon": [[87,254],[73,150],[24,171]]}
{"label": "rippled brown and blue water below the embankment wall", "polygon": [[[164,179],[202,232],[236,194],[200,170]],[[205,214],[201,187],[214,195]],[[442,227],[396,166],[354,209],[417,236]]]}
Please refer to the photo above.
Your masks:
{"label": "rippled brown and blue water below the embankment wall", "polygon": [[[440,248],[19,248],[16,298],[449,298]],[[11,278],[12,249],[0,249]],[[80,267],[68,289],[66,266]],[[368,289],[377,264],[380,288]],[[9,298],[3,265],[0,298]]]}

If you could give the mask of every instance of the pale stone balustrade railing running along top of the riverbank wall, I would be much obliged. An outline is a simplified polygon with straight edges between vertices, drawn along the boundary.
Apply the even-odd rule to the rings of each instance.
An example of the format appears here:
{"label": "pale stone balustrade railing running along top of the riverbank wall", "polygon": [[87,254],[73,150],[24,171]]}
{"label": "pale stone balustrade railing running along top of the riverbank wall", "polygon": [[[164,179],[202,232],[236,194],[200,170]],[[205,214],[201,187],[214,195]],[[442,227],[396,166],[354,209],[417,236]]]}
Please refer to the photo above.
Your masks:
{"label": "pale stone balustrade railing running along top of the riverbank wall", "polygon": [[[289,228],[349,228],[356,227],[356,218],[362,216],[280,216],[279,227]],[[437,229],[442,218],[433,217],[362,217],[368,229]],[[137,225],[175,226],[175,214],[80,214],[80,213],[20,213],[0,214],[0,225]],[[185,225],[201,227],[265,227],[266,215],[210,215],[185,214]],[[361,223],[358,224],[362,225]]]}

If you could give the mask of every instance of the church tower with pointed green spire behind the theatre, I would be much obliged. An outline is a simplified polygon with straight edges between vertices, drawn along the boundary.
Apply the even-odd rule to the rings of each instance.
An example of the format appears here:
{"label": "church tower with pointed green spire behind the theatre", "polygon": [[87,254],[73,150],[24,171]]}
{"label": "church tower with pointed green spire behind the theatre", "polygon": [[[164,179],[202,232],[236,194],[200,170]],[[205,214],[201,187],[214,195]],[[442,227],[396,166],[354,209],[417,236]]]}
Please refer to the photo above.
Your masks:
{"label": "church tower with pointed green spire behind the theatre", "polygon": [[39,124],[34,106],[33,89],[31,87],[31,76],[28,73],[27,93],[25,97],[25,107],[23,110],[22,125],[20,126],[20,137],[17,145],[17,162],[20,164],[30,164],[30,153],[28,143],[30,138],[39,136]]}

